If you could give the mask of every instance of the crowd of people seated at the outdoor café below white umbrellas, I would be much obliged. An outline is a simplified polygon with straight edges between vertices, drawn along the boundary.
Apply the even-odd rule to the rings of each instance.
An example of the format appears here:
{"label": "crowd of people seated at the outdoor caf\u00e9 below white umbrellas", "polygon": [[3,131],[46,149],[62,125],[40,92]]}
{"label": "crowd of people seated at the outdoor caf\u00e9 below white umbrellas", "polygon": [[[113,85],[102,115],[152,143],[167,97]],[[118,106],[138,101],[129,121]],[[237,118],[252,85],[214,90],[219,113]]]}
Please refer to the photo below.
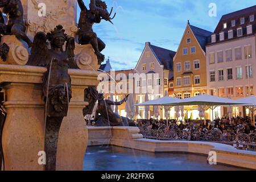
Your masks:
{"label": "crowd of people seated at the outdoor caf\u00e9 below white umbrellas", "polygon": [[249,117],[242,118],[240,116],[228,118],[223,116],[222,118],[217,117],[213,122],[207,121],[204,123],[204,120],[201,121],[192,121],[187,119],[185,121],[176,121],[175,119],[167,121],[160,119],[154,120],[139,120],[137,123],[138,127],[147,127],[147,129],[152,130],[171,130],[179,129],[180,131],[191,131],[191,132],[203,132],[206,133],[209,130],[219,129],[222,133],[233,132],[233,133],[256,133],[255,127],[251,125],[251,119]]}

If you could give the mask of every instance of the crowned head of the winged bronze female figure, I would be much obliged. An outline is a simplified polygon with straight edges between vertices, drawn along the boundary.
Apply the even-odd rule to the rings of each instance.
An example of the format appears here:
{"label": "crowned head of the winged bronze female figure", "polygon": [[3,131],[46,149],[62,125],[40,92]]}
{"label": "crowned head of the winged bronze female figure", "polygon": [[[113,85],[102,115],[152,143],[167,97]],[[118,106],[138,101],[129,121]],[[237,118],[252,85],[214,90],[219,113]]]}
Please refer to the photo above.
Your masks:
{"label": "crowned head of the winged bronze female figure", "polygon": [[47,39],[51,42],[52,48],[61,48],[62,50],[65,41],[68,40],[68,36],[65,34],[63,26],[59,24],[47,34]]}

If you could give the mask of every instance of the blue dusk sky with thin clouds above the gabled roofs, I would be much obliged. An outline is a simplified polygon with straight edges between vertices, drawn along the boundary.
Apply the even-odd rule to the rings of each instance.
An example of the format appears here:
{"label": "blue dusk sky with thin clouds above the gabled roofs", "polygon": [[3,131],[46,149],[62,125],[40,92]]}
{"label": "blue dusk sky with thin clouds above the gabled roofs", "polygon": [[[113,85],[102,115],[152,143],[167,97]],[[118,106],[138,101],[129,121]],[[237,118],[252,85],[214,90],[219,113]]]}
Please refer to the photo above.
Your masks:
{"label": "blue dusk sky with thin clouds above the gabled roofs", "polygon": [[[115,70],[133,69],[145,42],[177,51],[187,20],[193,25],[214,31],[224,14],[256,5],[255,0],[105,0],[117,15],[114,26],[102,21],[94,31],[106,43],[102,51]],[[84,0],[89,5],[89,0]],[[208,7],[216,3],[217,16],[210,17]],[[80,13],[80,9],[79,12]],[[78,17],[79,18],[79,17]]]}

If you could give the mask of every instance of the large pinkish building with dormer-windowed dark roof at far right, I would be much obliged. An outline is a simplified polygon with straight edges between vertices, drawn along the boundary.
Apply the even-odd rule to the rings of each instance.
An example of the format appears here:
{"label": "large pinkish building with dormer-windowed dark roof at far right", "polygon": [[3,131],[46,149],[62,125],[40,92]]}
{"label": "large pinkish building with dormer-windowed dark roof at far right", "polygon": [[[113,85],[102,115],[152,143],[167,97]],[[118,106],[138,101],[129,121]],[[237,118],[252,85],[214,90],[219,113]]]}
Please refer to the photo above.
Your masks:
{"label": "large pinkish building with dormer-windowed dark roof at far right", "polygon": [[[207,45],[210,95],[239,99],[256,94],[256,6],[223,15]],[[215,116],[228,115],[219,107]],[[234,107],[233,115],[248,115]]]}

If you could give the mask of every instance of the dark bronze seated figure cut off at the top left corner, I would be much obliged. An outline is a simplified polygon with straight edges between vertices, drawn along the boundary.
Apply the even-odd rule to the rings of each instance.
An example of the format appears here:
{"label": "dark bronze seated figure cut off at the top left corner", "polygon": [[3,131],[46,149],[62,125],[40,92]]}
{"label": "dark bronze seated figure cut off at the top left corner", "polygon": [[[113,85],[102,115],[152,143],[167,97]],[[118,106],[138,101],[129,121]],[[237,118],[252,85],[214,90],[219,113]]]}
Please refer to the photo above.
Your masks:
{"label": "dark bronze seated figure cut off at the top left corner", "polygon": [[3,22],[3,18],[0,18],[0,34],[14,34],[16,38],[26,42],[28,47],[32,47],[31,40],[25,34],[26,27],[23,22],[23,7],[20,0],[0,0],[0,8],[3,8],[3,13],[8,18],[6,24]]}

